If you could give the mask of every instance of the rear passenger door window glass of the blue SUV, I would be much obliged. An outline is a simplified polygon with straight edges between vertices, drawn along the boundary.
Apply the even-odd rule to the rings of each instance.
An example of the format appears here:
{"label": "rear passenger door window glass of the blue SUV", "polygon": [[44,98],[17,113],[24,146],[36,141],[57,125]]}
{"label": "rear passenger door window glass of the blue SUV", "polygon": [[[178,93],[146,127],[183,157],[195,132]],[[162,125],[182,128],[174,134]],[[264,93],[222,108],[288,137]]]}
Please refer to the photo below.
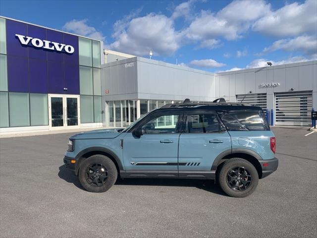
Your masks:
{"label": "rear passenger door window glass of the blue SUV", "polygon": [[215,114],[187,115],[187,133],[219,133],[221,124]]}

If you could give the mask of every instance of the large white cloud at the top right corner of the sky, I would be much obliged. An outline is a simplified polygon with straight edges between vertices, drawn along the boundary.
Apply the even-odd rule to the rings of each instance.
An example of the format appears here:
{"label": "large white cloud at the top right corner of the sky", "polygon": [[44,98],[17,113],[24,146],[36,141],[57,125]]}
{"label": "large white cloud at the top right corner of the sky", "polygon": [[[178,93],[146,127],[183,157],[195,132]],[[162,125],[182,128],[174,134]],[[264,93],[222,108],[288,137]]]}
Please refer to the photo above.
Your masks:
{"label": "large white cloud at the top right corner of the sky", "polygon": [[[257,2],[257,1],[255,1]],[[317,1],[287,4],[266,14],[253,25],[255,31],[285,37],[317,32]]]}

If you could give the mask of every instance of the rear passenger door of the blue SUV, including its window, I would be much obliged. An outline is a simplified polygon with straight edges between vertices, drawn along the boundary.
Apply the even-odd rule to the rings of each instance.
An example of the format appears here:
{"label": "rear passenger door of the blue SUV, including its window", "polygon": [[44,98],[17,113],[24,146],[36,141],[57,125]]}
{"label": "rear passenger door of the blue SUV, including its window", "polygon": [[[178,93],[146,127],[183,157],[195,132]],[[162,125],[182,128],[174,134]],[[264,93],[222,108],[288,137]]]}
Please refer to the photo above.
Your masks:
{"label": "rear passenger door of the blue SUV, including its window", "polygon": [[179,178],[212,179],[214,159],[231,150],[230,135],[215,112],[188,112],[184,122],[179,137]]}

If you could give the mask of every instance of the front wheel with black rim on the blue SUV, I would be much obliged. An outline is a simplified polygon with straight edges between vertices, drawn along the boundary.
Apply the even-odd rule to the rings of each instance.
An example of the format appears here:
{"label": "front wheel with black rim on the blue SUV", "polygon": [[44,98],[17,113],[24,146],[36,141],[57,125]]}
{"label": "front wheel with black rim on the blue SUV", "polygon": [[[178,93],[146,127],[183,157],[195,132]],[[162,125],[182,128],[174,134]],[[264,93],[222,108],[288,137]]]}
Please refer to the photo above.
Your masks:
{"label": "front wheel with black rim on the blue SUV", "polygon": [[93,155],[79,168],[79,181],[89,192],[106,192],[116,181],[117,169],[111,159]]}

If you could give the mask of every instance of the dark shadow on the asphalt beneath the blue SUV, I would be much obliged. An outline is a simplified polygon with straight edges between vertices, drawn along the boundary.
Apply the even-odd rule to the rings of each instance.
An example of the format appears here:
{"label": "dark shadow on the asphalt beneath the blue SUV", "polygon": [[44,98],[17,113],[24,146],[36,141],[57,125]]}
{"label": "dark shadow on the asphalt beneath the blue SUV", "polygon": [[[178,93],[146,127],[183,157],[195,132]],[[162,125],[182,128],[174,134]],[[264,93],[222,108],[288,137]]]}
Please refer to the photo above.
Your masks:
{"label": "dark shadow on the asphalt beneath the blue SUV", "polygon": [[[76,187],[83,189],[77,176],[66,168],[65,165],[59,167],[58,177],[66,182],[73,183]],[[204,179],[120,179],[118,178],[114,185],[130,185],[130,186],[175,186],[175,187],[197,187],[208,192],[219,195],[226,194],[220,187],[214,184],[214,180]]]}

